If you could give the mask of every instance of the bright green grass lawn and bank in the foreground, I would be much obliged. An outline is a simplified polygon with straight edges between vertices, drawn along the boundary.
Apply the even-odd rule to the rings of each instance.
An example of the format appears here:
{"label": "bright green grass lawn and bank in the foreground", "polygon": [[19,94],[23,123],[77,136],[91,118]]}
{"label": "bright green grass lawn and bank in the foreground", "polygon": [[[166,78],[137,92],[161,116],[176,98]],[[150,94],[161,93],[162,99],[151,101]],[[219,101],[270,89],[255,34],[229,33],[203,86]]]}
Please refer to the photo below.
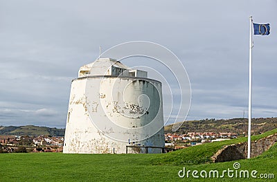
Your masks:
{"label": "bright green grass lawn and bank in the foreground", "polygon": [[[276,133],[253,137],[253,140]],[[230,143],[242,142],[238,138],[218,143],[189,147],[170,154],[61,154],[29,153],[0,154],[0,181],[246,181],[246,179],[194,179],[190,175],[180,179],[179,170],[233,170],[233,163],[208,163],[216,149]],[[196,161],[196,162],[189,162]],[[240,170],[277,173],[277,144],[256,158],[237,161]],[[266,181],[247,179],[247,181]]]}

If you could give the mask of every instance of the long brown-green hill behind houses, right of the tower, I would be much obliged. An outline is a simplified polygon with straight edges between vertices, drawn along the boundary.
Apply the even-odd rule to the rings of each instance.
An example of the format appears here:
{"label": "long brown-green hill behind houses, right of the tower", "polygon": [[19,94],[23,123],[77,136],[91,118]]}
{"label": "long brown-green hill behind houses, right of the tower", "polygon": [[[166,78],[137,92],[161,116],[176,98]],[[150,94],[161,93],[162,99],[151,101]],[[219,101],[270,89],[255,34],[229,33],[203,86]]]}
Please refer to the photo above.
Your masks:
{"label": "long brown-green hill behind houses, right of the tower", "polygon": [[[251,119],[251,133],[261,134],[265,131],[277,128],[277,118],[253,118]],[[231,132],[243,135],[248,131],[247,118],[233,118],[228,120],[189,120],[183,122],[176,131],[178,134],[188,132]],[[165,133],[172,133],[172,125],[165,126]]]}

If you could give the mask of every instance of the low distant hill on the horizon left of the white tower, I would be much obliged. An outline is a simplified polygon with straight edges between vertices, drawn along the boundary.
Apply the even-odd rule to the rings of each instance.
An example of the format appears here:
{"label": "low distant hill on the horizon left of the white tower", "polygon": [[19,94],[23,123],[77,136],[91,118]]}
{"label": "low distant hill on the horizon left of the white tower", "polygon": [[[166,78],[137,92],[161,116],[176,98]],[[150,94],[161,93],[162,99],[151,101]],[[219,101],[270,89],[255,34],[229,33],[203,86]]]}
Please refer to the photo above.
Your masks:
{"label": "low distant hill on the horizon left of the white tower", "polygon": [[28,136],[64,136],[65,129],[57,129],[50,127],[37,127],[33,125],[21,126],[21,127],[0,127],[0,135],[28,135]]}

